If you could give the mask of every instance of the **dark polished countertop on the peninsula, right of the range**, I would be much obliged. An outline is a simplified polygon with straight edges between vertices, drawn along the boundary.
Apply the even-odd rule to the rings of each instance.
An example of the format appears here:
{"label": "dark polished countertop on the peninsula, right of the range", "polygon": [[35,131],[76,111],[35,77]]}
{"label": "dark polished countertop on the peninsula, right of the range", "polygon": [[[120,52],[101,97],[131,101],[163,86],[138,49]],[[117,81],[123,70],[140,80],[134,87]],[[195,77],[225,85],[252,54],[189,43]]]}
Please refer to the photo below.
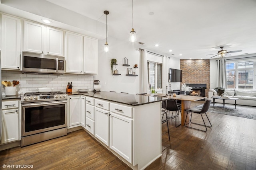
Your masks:
{"label": "dark polished countertop on the peninsula, right of the range", "polygon": [[139,106],[144,104],[149,104],[153,102],[160,102],[162,100],[167,100],[165,98],[157,98],[152,96],[142,96],[134,94],[116,93],[116,92],[73,92],[68,93],[68,95],[78,95],[82,94],[85,96],[90,96],[94,98],[104,99],[111,102],[117,102],[121,104],[127,104],[131,106]]}

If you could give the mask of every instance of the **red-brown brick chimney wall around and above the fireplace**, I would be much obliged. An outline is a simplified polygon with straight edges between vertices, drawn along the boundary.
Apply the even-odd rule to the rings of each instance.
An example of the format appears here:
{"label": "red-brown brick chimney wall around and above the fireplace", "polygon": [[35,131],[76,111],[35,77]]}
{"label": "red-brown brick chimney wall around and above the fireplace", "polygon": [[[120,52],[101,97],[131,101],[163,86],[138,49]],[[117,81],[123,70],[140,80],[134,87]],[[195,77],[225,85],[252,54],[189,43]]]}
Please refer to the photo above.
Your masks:
{"label": "red-brown brick chimney wall around and above the fireplace", "polygon": [[206,84],[205,96],[210,88],[210,60],[180,60],[183,83]]}

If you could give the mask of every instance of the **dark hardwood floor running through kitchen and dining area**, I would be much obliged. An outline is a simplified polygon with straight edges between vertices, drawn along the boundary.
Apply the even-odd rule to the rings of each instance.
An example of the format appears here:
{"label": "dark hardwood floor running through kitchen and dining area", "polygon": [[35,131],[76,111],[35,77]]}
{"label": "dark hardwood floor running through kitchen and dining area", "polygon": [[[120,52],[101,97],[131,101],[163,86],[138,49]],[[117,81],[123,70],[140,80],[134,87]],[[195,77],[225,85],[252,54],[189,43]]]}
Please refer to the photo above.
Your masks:
{"label": "dark hardwood floor running through kitchen and dining area", "polygon": [[[192,106],[202,103],[192,102]],[[207,115],[212,128],[206,133],[186,127],[176,128],[175,119],[169,120],[170,141],[166,123],[163,123],[162,157],[146,169],[255,170],[256,120],[210,112]],[[84,130],[27,147],[0,151],[0,169],[19,169],[2,168],[3,164],[33,165],[34,168],[28,169],[36,170],[130,170]]]}

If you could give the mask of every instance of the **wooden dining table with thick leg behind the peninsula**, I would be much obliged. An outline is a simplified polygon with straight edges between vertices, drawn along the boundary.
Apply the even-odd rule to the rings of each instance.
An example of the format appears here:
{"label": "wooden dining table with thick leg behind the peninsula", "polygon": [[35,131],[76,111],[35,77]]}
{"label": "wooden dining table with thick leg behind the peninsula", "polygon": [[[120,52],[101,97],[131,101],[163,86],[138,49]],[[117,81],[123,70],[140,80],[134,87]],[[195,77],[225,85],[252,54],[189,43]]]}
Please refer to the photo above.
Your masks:
{"label": "wooden dining table with thick leg behind the peninsula", "polygon": [[198,101],[205,99],[206,97],[203,96],[190,96],[190,95],[176,95],[174,96],[166,96],[165,94],[160,94],[160,93],[151,93],[151,94],[146,94],[146,96],[163,96],[167,97],[169,99],[175,99],[175,100],[181,100],[181,125],[185,125],[185,119],[186,119],[186,114],[185,114],[185,109],[190,108],[191,101]]}

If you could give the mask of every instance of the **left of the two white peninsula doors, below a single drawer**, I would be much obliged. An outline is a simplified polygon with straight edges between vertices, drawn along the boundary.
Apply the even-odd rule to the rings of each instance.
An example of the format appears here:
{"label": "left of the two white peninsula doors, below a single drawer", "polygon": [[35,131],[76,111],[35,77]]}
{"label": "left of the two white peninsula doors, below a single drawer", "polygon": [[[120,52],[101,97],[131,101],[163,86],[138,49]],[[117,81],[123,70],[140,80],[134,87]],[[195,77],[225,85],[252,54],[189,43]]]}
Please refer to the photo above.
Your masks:
{"label": "left of the two white peninsula doors, below a single drawer", "polygon": [[109,111],[95,107],[95,137],[109,146]]}

